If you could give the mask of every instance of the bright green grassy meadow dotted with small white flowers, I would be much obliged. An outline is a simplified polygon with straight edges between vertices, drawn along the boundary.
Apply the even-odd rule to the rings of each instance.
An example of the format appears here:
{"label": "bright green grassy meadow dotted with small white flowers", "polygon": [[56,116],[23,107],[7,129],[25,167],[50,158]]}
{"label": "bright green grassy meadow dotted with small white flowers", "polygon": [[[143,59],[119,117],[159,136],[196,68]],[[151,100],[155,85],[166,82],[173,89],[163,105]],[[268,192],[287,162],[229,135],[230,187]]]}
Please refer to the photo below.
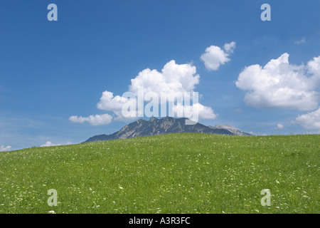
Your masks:
{"label": "bright green grassy meadow dotted with small white flowers", "polygon": [[320,213],[319,155],[320,135],[201,133],[0,152],[0,213]]}

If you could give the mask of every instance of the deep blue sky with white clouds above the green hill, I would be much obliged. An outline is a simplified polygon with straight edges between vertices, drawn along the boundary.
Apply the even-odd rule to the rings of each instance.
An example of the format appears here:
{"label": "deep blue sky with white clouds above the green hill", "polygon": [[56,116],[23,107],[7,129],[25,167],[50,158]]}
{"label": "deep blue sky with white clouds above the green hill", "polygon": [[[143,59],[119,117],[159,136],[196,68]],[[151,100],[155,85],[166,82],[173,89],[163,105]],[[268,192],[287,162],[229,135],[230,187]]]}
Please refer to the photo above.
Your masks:
{"label": "deep blue sky with white clouds above the green hill", "polygon": [[[47,19],[51,3],[58,21]],[[265,3],[271,21],[260,19]],[[199,123],[319,133],[319,10],[317,0],[1,0],[0,149],[114,133],[132,120],[105,108],[114,100],[98,108],[102,93],[121,96],[134,78],[146,85],[142,71],[161,74],[170,61],[196,69],[186,77],[199,76],[190,89],[208,111]],[[83,119],[106,113],[102,125]]]}

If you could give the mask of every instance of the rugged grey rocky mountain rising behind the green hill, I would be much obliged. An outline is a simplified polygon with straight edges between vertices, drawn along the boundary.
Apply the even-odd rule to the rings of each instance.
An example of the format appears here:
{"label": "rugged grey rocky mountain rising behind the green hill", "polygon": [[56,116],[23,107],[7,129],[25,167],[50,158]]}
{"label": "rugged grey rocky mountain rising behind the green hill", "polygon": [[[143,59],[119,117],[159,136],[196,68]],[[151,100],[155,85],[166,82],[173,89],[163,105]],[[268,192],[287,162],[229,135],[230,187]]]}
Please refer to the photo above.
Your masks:
{"label": "rugged grey rocky mountain rising behind the green hill", "polygon": [[110,135],[95,135],[87,139],[85,142],[136,138],[168,133],[209,133],[220,135],[237,135],[227,128],[215,128],[212,126],[209,127],[206,125],[202,125],[201,123],[196,123],[195,125],[186,125],[186,120],[186,118],[171,117],[165,117],[161,119],[151,117],[150,120],[139,119],[133,123],[125,125],[115,133],[112,133]]}

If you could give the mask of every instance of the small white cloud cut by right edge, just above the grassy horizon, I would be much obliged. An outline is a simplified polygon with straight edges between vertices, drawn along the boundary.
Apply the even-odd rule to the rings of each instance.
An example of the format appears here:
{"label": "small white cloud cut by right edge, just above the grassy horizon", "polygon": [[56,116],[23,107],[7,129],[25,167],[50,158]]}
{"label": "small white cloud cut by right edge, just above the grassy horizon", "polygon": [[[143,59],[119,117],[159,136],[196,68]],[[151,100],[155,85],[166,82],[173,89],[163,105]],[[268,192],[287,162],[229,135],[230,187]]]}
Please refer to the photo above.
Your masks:
{"label": "small white cloud cut by right edge, just above the grassy horizon", "polygon": [[299,115],[294,123],[302,125],[305,129],[320,130],[320,108],[314,112]]}

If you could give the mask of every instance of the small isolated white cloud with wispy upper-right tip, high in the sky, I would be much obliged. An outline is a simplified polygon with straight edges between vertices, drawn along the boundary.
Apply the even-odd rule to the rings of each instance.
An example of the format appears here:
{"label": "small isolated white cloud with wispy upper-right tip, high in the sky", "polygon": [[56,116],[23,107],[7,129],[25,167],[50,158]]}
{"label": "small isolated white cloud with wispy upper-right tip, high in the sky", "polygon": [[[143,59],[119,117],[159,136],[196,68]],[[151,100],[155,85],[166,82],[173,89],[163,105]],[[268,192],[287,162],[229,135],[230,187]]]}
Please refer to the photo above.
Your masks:
{"label": "small isolated white cloud with wispy upper-right tip, high in the sky", "polygon": [[225,51],[218,46],[210,46],[206,48],[205,53],[201,55],[201,60],[205,64],[208,71],[217,71],[218,68],[230,61],[230,53],[233,53],[235,42],[225,43],[223,46]]}

